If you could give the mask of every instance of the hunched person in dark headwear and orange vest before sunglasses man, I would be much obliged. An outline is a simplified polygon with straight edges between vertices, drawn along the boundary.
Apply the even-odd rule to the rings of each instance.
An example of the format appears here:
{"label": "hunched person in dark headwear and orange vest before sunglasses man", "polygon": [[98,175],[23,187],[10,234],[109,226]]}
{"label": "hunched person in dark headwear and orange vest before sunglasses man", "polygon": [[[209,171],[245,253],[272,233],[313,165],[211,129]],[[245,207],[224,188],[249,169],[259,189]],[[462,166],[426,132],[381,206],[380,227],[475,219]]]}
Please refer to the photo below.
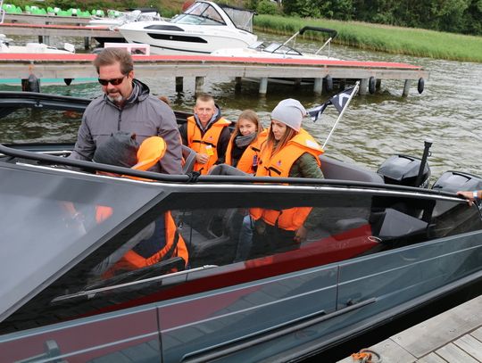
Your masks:
{"label": "hunched person in dark headwear and orange vest before sunglasses man", "polygon": [[[103,164],[147,170],[162,159],[165,152],[166,144],[159,136],[146,138],[139,147],[135,135],[118,131],[97,147],[93,160]],[[107,173],[99,172],[99,174]],[[110,218],[112,212],[110,207],[97,206],[96,222],[102,223]],[[107,278],[126,270],[143,268],[162,260],[169,260],[175,256],[182,257],[187,266],[186,243],[179,235],[170,212],[167,211],[102,261],[95,268],[95,273]]]}

